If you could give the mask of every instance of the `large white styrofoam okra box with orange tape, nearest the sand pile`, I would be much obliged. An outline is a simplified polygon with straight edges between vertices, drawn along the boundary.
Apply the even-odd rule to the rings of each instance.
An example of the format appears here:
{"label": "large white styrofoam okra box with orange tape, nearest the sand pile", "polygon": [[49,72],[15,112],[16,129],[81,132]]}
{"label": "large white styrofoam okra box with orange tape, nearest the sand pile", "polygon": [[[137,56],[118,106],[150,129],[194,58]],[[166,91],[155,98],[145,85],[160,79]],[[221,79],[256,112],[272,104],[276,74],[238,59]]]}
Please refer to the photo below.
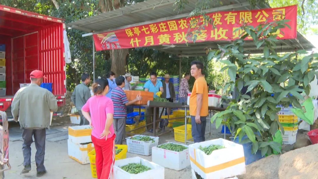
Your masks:
{"label": "large white styrofoam okra box with orange tape, nearest the sand pile", "polygon": [[[225,148],[206,155],[200,146],[221,145]],[[243,146],[219,138],[189,145],[191,168],[204,179],[224,179],[245,174]]]}

